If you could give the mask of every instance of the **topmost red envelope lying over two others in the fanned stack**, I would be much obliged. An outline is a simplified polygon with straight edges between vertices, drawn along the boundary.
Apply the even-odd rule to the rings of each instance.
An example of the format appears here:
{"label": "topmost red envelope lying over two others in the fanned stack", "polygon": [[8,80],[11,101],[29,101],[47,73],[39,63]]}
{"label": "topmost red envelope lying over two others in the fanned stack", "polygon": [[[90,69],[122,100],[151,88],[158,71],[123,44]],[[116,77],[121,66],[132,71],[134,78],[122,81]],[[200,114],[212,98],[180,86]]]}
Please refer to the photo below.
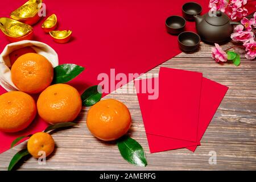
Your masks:
{"label": "topmost red envelope lying over two others in the fanned stack", "polygon": [[197,142],[202,78],[198,72],[160,68],[148,134]]}

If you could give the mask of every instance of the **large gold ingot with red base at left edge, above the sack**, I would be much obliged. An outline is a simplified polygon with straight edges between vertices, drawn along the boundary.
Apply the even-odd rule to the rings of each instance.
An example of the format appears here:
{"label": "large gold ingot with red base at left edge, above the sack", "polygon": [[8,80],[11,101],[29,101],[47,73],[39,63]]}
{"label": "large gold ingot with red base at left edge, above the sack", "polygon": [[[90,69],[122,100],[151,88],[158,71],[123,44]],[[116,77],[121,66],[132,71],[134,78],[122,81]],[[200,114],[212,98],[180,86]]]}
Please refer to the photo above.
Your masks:
{"label": "large gold ingot with red base at left edge, above the sack", "polygon": [[0,29],[10,42],[31,40],[33,27],[11,18],[0,18]]}

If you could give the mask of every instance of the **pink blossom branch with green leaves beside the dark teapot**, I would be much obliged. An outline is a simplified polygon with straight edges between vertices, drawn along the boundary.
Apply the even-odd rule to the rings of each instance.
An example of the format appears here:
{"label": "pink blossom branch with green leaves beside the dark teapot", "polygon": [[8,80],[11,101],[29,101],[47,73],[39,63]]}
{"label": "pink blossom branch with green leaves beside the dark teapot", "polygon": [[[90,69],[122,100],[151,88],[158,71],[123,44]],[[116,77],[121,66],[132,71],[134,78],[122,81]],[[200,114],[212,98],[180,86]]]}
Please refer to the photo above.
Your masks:
{"label": "pink blossom branch with green leaves beside the dark teapot", "polygon": [[245,16],[248,13],[244,8],[246,3],[247,0],[210,0],[209,7],[212,10],[220,10],[225,12],[232,20],[241,20],[241,24],[234,28],[234,32],[230,36],[234,42],[241,43],[241,46],[232,46],[224,51],[220,45],[215,44],[215,47],[212,48],[212,58],[217,63],[225,63],[228,60],[232,60],[235,65],[240,65],[240,55],[238,55],[236,52],[229,51],[230,49],[236,47],[245,49],[246,59],[255,60],[256,13],[254,13],[253,18],[246,18]]}

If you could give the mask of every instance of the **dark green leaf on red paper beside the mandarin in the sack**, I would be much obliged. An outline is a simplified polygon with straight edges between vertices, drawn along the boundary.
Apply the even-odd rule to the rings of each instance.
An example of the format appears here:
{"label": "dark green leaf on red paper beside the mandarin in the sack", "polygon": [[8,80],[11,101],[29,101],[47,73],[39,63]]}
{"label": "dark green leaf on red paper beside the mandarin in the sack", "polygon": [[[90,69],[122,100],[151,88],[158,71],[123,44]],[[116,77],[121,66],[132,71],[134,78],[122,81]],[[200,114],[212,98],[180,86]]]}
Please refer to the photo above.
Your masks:
{"label": "dark green leaf on red paper beside the mandarin in the sack", "polygon": [[54,68],[52,84],[61,84],[73,80],[84,71],[84,67],[76,64],[61,64]]}

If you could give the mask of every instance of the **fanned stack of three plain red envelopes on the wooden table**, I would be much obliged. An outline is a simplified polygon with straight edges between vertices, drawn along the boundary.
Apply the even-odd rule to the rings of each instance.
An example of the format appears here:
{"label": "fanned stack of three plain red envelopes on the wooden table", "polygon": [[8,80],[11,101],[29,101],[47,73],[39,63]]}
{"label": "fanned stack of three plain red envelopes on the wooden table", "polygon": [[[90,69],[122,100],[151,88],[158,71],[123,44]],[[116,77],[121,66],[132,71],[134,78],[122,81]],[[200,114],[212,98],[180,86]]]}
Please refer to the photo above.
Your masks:
{"label": "fanned stack of three plain red envelopes on the wooden table", "polygon": [[[143,83],[154,81],[159,82],[159,89],[154,88],[159,96],[152,100]],[[135,80],[135,88],[151,153],[178,148],[194,152],[228,91],[202,73],[172,68],[160,68],[158,78]]]}

